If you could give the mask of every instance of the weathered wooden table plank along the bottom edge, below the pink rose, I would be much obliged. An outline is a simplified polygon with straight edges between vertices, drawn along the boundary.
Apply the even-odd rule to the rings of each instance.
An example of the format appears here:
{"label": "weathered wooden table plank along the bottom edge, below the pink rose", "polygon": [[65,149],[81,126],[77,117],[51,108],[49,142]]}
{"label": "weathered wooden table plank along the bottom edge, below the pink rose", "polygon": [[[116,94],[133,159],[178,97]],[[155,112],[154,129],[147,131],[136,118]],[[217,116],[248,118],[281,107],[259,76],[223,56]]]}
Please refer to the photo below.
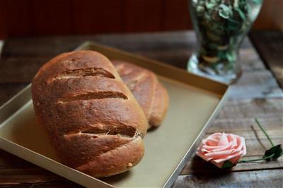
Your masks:
{"label": "weathered wooden table plank along the bottom edge, below the pink rose", "polygon": [[250,172],[226,172],[180,175],[173,184],[176,187],[282,187],[283,169]]}

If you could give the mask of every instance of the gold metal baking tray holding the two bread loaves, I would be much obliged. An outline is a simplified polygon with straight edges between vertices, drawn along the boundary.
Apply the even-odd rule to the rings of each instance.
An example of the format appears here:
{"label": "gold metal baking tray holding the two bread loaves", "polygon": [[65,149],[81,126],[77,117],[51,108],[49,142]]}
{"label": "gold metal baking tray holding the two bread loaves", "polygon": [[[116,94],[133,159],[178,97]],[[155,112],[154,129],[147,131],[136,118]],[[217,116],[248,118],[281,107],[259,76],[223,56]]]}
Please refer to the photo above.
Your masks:
{"label": "gold metal baking tray holding the two bread loaves", "polygon": [[96,50],[109,59],[150,69],[167,88],[168,114],[161,127],[146,134],[146,153],[141,163],[121,175],[101,180],[59,163],[37,124],[30,85],[0,107],[0,148],[85,187],[171,187],[219,112],[228,86],[94,42],[85,42],[79,49]]}

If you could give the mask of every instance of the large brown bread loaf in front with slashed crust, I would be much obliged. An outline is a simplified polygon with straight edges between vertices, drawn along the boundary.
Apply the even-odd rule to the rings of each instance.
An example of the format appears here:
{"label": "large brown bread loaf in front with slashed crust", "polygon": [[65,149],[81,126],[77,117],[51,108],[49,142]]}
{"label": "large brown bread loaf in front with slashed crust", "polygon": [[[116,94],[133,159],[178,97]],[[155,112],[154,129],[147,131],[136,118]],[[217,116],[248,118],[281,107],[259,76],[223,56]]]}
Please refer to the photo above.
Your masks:
{"label": "large brown bread loaf in front with slashed crust", "polygon": [[125,172],[144,155],[143,110],[102,54],[60,54],[32,84],[35,114],[62,163],[93,177]]}

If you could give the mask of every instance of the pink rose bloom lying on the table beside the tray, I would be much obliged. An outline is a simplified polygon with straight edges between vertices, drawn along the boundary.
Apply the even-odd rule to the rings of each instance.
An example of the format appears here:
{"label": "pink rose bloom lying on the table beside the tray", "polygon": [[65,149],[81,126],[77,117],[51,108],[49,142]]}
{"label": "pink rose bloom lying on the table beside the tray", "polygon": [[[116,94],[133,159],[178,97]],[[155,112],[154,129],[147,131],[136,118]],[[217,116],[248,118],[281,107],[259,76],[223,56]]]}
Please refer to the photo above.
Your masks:
{"label": "pink rose bloom lying on the table beside the tray", "polygon": [[241,156],[246,155],[245,139],[235,134],[214,133],[202,141],[197,155],[218,168],[228,160],[236,165]]}

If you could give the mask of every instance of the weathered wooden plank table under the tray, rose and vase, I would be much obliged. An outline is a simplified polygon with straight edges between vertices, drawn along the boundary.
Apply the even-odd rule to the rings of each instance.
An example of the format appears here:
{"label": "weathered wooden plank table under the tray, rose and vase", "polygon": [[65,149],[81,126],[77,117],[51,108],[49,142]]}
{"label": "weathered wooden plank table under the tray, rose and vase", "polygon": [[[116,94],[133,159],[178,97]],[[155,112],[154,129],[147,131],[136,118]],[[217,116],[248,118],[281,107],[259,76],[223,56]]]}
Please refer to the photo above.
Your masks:
{"label": "weathered wooden plank table under the tray, rose and vase", "polygon": [[[256,39],[253,37],[253,40],[257,41]],[[196,42],[192,32],[6,40],[0,59],[0,105],[30,83],[37,69],[47,59],[70,51],[86,40],[142,54],[180,68],[185,68]],[[243,76],[238,83],[231,86],[229,100],[207,131],[207,135],[225,131],[244,136],[248,148],[245,159],[260,158],[266,148],[270,148],[270,143],[255,126],[253,118],[258,117],[272,140],[282,144],[283,94],[272,72],[262,63],[249,40],[243,42],[240,51]],[[268,58],[265,61],[268,61]],[[279,71],[280,69],[282,71],[282,67]],[[283,158],[270,163],[241,163],[231,170],[218,170],[194,156],[173,187],[282,187],[282,184]],[[79,187],[1,150],[0,185]]]}

